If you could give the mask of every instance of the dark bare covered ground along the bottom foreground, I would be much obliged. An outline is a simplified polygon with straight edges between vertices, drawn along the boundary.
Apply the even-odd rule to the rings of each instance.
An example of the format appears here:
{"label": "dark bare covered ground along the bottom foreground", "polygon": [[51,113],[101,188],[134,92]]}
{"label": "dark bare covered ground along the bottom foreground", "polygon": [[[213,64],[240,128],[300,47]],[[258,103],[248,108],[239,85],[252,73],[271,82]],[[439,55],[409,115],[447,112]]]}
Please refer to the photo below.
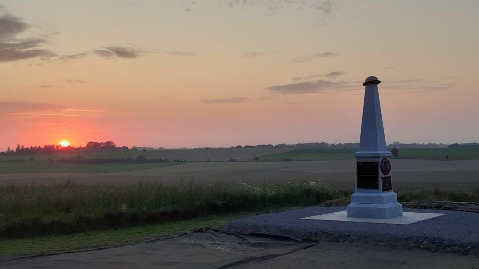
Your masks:
{"label": "dark bare covered ground along the bottom foreground", "polygon": [[351,243],[298,242],[213,230],[110,249],[39,256],[1,268],[479,268],[479,259]]}

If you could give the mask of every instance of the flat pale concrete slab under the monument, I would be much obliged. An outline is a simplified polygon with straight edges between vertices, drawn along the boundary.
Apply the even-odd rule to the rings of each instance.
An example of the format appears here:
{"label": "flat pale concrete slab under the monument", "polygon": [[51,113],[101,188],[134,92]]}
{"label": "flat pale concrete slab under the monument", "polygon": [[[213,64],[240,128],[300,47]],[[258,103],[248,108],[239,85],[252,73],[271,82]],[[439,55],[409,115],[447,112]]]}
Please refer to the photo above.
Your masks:
{"label": "flat pale concrete slab under the monument", "polygon": [[352,222],[370,222],[370,223],[388,223],[388,224],[411,224],[418,221],[428,220],[446,214],[441,213],[420,213],[420,212],[403,212],[402,216],[394,217],[390,219],[369,219],[369,218],[348,218],[346,216],[346,210],[316,215],[303,220],[327,220],[327,221],[352,221]]}

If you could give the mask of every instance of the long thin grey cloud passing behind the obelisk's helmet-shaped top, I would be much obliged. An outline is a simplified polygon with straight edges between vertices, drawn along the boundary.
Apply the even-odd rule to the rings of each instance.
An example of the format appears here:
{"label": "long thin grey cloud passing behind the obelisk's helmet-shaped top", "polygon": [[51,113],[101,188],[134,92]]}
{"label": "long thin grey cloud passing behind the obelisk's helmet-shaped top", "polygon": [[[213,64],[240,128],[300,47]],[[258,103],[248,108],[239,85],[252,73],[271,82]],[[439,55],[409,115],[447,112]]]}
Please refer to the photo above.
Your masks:
{"label": "long thin grey cloud passing behind the obelisk's helmet-shaped top", "polygon": [[[426,85],[424,85],[426,83]],[[362,81],[340,81],[332,82],[330,80],[314,80],[306,82],[291,83],[267,87],[271,93],[293,95],[293,94],[334,94],[346,91],[363,90]],[[421,79],[409,80],[391,80],[381,83],[382,90],[408,91],[408,92],[431,92],[438,90],[447,90],[454,87],[455,84],[442,84],[435,82],[426,82]]]}

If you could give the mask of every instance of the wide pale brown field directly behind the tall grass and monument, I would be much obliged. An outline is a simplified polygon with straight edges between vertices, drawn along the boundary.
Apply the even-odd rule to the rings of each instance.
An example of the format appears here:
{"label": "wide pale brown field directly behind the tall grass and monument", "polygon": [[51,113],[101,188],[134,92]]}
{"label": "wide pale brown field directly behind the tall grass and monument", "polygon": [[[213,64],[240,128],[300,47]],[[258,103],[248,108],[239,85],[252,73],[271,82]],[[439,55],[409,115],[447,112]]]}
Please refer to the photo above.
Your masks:
{"label": "wide pale brown field directly behind the tall grass and monument", "polygon": [[[392,159],[393,180],[407,182],[479,183],[479,160]],[[287,182],[315,180],[326,184],[353,185],[355,160],[291,162],[192,162],[187,164],[114,173],[0,174],[0,184],[61,182],[131,184],[139,181],[179,183],[194,181]]]}

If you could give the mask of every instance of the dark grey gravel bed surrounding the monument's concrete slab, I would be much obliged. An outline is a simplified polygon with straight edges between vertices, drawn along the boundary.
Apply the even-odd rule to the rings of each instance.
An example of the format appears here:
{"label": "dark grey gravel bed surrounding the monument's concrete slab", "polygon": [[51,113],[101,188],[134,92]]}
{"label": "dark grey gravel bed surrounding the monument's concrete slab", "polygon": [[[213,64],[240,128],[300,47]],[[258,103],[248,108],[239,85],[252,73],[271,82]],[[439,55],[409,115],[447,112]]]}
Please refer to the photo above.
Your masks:
{"label": "dark grey gravel bed surrounding the monument's concrete slab", "polygon": [[419,248],[479,257],[478,213],[405,209],[404,212],[447,214],[409,225],[301,219],[345,209],[345,207],[308,207],[241,218],[232,220],[221,227],[221,230],[234,234],[284,236],[303,241]]}

